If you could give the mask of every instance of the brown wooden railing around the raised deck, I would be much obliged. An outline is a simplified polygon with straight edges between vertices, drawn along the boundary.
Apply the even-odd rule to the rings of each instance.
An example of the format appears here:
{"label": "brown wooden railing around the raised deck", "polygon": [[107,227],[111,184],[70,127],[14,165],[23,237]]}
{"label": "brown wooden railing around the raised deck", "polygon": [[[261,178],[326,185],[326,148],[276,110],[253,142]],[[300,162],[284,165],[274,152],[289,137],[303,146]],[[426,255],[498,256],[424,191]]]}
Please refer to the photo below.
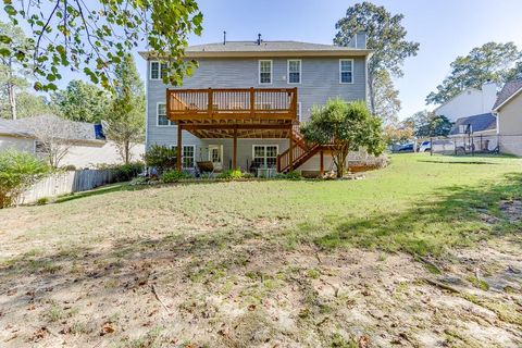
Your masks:
{"label": "brown wooden railing around the raised deck", "polygon": [[167,89],[172,121],[190,119],[297,120],[297,88]]}

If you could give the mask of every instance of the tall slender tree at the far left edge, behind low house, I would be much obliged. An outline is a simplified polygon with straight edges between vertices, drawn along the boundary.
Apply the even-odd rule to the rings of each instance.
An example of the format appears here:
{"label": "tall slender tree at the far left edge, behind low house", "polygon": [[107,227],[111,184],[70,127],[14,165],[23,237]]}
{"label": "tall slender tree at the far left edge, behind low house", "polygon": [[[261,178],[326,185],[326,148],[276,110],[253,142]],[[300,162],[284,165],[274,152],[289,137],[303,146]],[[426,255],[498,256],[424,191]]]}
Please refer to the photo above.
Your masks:
{"label": "tall slender tree at the far left edge, behind low house", "polygon": [[[8,100],[2,110],[8,109],[10,119],[16,120],[16,94],[29,85],[27,79],[28,71],[20,62],[18,52],[30,51],[30,41],[25,37],[22,28],[0,22],[0,38],[9,36],[9,45],[0,40],[0,95],[2,104]],[[3,112],[2,112],[3,113]]]}

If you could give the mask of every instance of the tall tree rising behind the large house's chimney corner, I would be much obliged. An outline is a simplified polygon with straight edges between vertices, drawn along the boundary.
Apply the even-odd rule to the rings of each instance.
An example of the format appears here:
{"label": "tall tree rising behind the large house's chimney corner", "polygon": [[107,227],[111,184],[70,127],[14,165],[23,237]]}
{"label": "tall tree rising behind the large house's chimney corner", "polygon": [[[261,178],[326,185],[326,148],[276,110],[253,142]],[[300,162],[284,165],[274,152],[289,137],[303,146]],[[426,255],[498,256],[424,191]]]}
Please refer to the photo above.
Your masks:
{"label": "tall tree rising behind the large house's chimney corner", "polygon": [[375,84],[381,71],[401,77],[402,64],[408,57],[417,55],[419,44],[407,41],[407,30],[402,26],[402,14],[391,15],[384,7],[377,7],[363,1],[348,8],[346,16],[340,18],[335,28],[334,42],[349,46],[357,33],[365,32],[368,35],[366,47],[374,50],[368,62],[368,83],[370,92],[370,110],[376,113],[375,98],[377,90]]}

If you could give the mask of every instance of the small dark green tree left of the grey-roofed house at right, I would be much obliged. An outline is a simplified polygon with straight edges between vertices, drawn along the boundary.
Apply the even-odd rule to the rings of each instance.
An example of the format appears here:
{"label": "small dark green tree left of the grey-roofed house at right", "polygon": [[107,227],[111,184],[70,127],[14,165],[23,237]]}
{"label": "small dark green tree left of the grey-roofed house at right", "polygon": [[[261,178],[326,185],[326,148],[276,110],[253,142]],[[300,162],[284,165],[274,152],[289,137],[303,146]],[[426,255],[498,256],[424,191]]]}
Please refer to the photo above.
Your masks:
{"label": "small dark green tree left of the grey-roofed house at right", "polygon": [[438,116],[435,113],[423,110],[407,119],[418,138],[447,136],[451,132],[452,124],[446,116]]}

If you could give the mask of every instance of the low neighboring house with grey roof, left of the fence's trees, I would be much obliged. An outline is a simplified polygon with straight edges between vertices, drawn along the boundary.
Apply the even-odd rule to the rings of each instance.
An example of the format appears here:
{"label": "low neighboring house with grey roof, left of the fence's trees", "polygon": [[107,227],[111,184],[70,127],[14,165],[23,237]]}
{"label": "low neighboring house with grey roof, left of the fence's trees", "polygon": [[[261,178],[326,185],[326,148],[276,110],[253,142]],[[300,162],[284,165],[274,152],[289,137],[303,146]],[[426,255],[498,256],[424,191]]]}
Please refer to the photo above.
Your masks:
{"label": "low neighboring house with grey roof, left of the fence's trees", "polygon": [[[63,122],[54,115],[41,115],[20,120],[0,119],[0,151],[15,149],[27,151],[36,156],[45,157],[48,152],[46,146],[38,140],[35,132],[35,125],[51,126]],[[112,141],[108,141],[101,128],[95,128],[95,124],[84,122],[71,122],[67,139],[72,147],[60,161],[60,165],[74,165],[77,169],[94,167],[97,164],[121,163],[121,157]],[[57,129],[60,128],[57,126]],[[59,137],[61,135],[57,135]],[[63,135],[62,135],[63,136]],[[141,160],[145,146],[136,145],[133,148],[133,159]]]}

